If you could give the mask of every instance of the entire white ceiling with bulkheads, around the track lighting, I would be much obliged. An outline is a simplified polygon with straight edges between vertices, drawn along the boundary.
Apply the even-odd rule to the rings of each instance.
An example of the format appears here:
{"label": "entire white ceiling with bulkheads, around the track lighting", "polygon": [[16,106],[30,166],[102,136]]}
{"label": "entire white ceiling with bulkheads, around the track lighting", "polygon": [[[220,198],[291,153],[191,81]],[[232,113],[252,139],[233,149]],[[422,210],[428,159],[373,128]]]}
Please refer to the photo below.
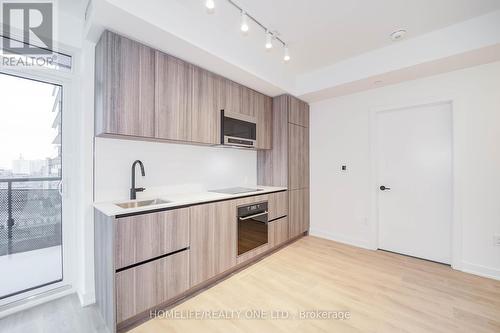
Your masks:
{"label": "entire white ceiling with bulkheads, around the track lighting", "polygon": [[[500,44],[500,0],[233,0],[280,32],[290,45],[288,64],[281,47],[265,51],[257,25],[250,22],[242,35],[240,14],[227,0],[215,0],[211,15],[204,0],[92,1],[91,39],[110,29],[271,96],[328,98],[345,91],[335,87],[380,79],[384,70],[441,64],[454,53]],[[401,28],[407,37],[392,42],[389,34]]]}

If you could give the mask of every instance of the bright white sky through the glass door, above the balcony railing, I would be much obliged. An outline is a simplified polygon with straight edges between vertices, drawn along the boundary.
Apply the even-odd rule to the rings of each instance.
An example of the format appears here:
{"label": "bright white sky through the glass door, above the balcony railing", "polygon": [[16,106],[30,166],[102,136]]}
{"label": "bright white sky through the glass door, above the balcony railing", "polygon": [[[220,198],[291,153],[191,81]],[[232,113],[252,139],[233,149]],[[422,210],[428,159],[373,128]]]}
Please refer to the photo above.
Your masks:
{"label": "bright white sky through the glass door, above the balcony railing", "polygon": [[[53,84],[1,75],[0,170],[39,173],[43,163],[59,155],[58,112],[53,111],[57,89]],[[28,98],[27,98],[28,97]],[[22,129],[21,131],[19,129]]]}

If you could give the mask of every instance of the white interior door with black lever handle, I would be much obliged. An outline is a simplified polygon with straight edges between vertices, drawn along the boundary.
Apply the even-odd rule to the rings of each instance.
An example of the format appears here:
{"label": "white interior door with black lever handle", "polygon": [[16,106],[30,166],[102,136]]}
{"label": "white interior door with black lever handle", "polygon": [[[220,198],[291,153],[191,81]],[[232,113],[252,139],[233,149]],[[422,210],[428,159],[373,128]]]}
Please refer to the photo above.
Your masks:
{"label": "white interior door with black lever handle", "polygon": [[376,121],[379,248],[450,263],[451,103],[380,112]]}

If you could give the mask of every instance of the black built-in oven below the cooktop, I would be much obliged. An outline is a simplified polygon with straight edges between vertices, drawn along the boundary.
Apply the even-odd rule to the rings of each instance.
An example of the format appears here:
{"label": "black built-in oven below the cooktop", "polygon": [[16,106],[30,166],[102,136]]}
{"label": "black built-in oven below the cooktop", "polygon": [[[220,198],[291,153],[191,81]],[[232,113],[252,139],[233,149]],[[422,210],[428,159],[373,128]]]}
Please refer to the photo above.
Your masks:
{"label": "black built-in oven below the cooktop", "polygon": [[238,255],[267,244],[267,202],[238,207]]}

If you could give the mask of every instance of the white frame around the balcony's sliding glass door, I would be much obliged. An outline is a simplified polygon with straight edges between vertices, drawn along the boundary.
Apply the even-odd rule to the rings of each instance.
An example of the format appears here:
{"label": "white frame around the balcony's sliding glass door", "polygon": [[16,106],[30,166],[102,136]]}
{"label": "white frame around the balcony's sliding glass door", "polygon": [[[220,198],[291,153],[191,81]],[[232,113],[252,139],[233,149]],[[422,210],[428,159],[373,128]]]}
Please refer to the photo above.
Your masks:
{"label": "white frame around the balcony's sliding glass door", "polygon": [[[75,63],[74,55],[73,63]],[[22,310],[49,299],[68,295],[75,291],[76,258],[77,258],[77,216],[78,202],[73,198],[76,187],[74,176],[74,163],[68,151],[77,147],[67,139],[74,132],[72,128],[78,123],[78,109],[75,108],[76,95],[74,94],[74,68],[71,72],[58,72],[51,69],[34,68],[0,68],[0,74],[11,75],[21,79],[41,81],[49,84],[60,85],[63,89],[62,114],[61,114],[61,153],[62,153],[62,281],[41,286],[33,290],[14,295],[0,302],[0,318],[10,313]],[[71,185],[71,186],[70,186]]]}

